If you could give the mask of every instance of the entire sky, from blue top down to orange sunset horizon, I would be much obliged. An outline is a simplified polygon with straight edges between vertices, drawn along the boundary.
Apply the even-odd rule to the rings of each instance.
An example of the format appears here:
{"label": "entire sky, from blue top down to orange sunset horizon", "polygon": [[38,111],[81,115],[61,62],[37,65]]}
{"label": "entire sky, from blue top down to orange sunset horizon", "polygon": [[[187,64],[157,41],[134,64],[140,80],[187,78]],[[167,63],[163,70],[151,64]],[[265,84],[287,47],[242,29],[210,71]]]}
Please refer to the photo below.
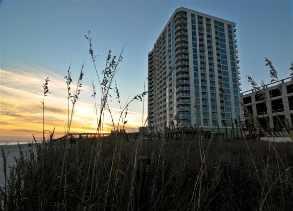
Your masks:
{"label": "entire sky, from blue top down to orange sunset horizon", "polygon": [[[292,1],[0,1],[0,141],[38,139],[42,131],[42,84],[50,78],[45,99],[45,129],[56,126],[56,137],[67,125],[67,89],[64,76],[71,62],[78,79],[84,62],[84,81],[71,131],[95,132],[91,81],[98,87],[84,38],[91,28],[98,70],[109,49],[119,54],[117,74],[122,106],[147,84],[147,54],[174,10],[184,6],[236,22],[242,90],[250,89],[246,75],[260,83],[270,81],[264,57],[280,79],[289,76],[292,59]],[[97,89],[97,95],[99,91]],[[110,101],[115,122],[119,105]],[[147,98],[145,99],[147,107]],[[130,105],[127,130],[142,124],[142,102]],[[145,117],[147,109],[144,110]],[[105,129],[111,122],[105,117]]]}

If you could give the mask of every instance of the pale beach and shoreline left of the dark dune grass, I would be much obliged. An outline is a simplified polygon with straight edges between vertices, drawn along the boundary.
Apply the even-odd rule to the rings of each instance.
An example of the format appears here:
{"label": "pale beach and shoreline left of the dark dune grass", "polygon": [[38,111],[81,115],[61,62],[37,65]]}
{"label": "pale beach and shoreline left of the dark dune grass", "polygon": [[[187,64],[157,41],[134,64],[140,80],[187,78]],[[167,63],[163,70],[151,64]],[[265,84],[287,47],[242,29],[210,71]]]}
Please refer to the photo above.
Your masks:
{"label": "pale beach and shoreline left of the dark dune grass", "polygon": [[[11,167],[15,163],[15,158],[19,158],[19,147],[21,150],[23,150],[24,154],[25,152],[28,152],[30,148],[34,147],[35,144],[32,144],[32,147],[28,147],[28,141],[18,142],[19,146],[17,145],[17,142],[11,142],[4,144],[6,142],[0,142],[0,187],[3,187],[5,184],[4,179],[4,162],[3,162],[3,154],[2,149],[4,151],[4,155],[6,156],[7,165],[6,165],[6,172],[7,174],[10,172]],[[30,142],[31,143],[31,142]]]}

